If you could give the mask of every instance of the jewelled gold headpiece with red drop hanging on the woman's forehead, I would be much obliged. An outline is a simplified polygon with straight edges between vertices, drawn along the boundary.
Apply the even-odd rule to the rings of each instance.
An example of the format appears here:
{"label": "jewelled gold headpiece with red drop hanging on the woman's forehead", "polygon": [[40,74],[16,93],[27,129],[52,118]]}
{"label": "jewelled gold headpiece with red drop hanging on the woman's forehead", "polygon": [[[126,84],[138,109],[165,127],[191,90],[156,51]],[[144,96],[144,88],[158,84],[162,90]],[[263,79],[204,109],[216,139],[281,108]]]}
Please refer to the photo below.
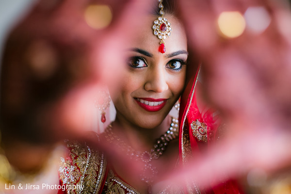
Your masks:
{"label": "jewelled gold headpiece with red drop hanging on the woman's forehead", "polygon": [[160,48],[159,51],[161,53],[164,53],[166,51],[166,47],[164,44],[164,40],[171,35],[172,27],[171,23],[168,21],[167,18],[165,18],[164,11],[163,11],[163,5],[162,5],[162,0],[159,1],[159,8],[160,10],[160,17],[154,21],[153,25],[153,30],[154,30],[154,35],[156,35],[160,40]]}

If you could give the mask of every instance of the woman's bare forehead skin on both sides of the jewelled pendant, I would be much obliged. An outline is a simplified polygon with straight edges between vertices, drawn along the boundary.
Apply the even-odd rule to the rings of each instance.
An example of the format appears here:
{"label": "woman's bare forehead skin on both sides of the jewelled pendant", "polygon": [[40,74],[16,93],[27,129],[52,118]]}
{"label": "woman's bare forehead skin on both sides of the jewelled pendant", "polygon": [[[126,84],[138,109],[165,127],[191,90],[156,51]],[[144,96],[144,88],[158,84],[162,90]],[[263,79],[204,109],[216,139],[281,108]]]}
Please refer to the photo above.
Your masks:
{"label": "woman's bare forehead skin on both sides of the jewelled pendant", "polygon": [[[177,50],[187,50],[187,38],[182,24],[174,16],[165,15],[164,17],[171,22],[171,27],[173,29],[171,36],[164,40],[164,45],[166,47],[165,54],[175,52]],[[161,40],[154,35],[154,31],[152,29],[154,21],[157,18],[158,16],[148,16],[145,18],[143,25],[138,29],[132,38],[129,45],[130,48],[144,49],[153,54],[159,53]]]}

